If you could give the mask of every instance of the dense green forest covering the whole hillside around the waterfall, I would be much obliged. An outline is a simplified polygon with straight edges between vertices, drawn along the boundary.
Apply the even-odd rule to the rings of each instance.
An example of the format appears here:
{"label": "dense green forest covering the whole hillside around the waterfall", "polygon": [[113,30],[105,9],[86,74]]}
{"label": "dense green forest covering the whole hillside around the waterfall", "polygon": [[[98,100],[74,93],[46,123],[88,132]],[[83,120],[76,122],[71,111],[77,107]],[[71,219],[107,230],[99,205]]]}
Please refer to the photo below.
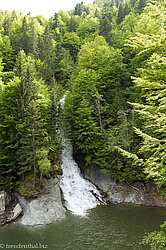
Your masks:
{"label": "dense green forest covering the whole hillside around the waterfall", "polygon": [[[165,195],[165,20],[165,0],[81,2],[49,20],[0,11],[1,189],[36,196],[61,174],[63,113],[81,166]],[[145,243],[165,246],[165,229]]]}

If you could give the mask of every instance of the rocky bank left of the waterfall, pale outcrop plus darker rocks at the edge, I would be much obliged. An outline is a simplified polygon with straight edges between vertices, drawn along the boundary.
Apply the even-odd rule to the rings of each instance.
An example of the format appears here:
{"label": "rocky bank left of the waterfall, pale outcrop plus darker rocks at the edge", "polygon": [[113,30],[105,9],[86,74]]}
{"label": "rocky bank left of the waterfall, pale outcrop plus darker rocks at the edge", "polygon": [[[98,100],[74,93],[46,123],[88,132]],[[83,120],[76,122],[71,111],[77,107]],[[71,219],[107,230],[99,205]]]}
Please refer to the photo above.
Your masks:
{"label": "rocky bank left of the waterfall, pale outcrop plus darker rocks at the edge", "polygon": [[21,215],[23,216],[19,221],[26,226],[51,224],[65,217],[66,209],[62,204],[57,178],[45,180],[43,192],[36,198],[25,199],[18,193],[11,193],[3,198],[1,225],[12,222]]}

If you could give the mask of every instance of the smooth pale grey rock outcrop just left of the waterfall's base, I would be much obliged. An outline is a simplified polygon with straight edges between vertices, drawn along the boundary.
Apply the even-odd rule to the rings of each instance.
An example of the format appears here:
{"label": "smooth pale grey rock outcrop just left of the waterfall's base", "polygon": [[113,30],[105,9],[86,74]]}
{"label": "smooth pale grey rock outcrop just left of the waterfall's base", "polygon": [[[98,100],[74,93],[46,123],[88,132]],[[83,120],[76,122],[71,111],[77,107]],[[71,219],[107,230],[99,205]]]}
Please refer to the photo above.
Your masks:
{"label": "smooth pale grey rock outcrop just left of the waterfall's base", "polygon": [[21,224],[36,226],[56,222],[65,217],[57,179],[47,180],[46,192],[33,200],[20,197],[24,210]]}

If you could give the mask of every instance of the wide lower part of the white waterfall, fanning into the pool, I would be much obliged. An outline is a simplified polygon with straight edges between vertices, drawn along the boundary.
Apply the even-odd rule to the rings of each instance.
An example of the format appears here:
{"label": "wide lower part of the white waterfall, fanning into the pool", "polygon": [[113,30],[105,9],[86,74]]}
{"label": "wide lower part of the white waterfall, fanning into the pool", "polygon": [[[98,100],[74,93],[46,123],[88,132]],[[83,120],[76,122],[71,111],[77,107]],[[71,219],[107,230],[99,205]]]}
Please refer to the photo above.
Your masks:
{"label": "wide lower part of the white waterfall, fanning into the pool", "polygon": [[77,163],[72,157],[72,146],[63,140],[64,149],[62,151],[63,176],[60,181],[66,207],[73,214],[84,216],[87,210],[96,207],[102,202],[102,197],[96,187],[85,180]]}

